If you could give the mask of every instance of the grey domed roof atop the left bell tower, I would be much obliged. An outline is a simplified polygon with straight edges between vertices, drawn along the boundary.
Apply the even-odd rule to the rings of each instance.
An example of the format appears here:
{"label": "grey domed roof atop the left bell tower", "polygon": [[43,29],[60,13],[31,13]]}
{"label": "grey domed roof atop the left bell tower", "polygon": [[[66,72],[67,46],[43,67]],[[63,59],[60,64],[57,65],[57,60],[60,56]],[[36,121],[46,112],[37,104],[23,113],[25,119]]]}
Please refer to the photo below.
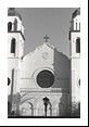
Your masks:
{"label": "grey domed roof atop the left bell tower", "polygon": [[22,21],[21,14],[15,10],[15,8],[8,9],[8,16],[17,16]]}

